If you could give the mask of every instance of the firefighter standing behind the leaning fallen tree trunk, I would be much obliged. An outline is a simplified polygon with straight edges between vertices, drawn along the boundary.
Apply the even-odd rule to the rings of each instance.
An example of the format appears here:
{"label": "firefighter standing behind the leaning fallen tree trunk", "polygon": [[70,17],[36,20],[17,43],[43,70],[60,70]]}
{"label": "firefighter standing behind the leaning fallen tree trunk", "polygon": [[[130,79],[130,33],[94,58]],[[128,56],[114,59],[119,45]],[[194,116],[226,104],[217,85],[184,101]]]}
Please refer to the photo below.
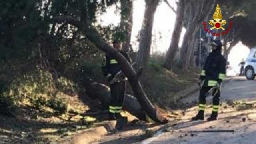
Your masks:
{"label": "firefighter standing behind the leaning fallen tree trunk", "polygon": [[[121,44],[118,40],[114,40],[113,47],[116,48],[130,63],[131,59],[127,52],[121,51]],[[116,120],[122,117],[121,110],[124,103],[124,95],[126,91],[127,78],[121,71],[117,60],[106,53],[102,63],[102,72],[108,78],[110,84],[110,105],[109,105],[109,120]],[[121,75],[120,75],[121,74]]]}

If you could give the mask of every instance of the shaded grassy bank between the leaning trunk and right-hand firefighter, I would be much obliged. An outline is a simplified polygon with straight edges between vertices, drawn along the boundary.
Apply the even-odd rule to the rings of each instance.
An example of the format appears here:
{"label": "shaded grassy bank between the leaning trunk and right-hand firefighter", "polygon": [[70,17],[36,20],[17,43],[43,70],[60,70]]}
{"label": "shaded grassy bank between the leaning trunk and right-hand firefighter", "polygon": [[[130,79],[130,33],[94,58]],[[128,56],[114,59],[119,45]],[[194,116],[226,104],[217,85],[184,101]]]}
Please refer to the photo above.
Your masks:
{"label": "shaded grassy bank between the leaning trunk and right-hand firefighter", "polygon": [[177,67],[172,71],[162,67],[164,56],[150,57],[148,68],[144,70],[140,81],[148,98],[155,104],[165,107],[172,104],[174,94],[195,84],[198,74],[184,72]]}

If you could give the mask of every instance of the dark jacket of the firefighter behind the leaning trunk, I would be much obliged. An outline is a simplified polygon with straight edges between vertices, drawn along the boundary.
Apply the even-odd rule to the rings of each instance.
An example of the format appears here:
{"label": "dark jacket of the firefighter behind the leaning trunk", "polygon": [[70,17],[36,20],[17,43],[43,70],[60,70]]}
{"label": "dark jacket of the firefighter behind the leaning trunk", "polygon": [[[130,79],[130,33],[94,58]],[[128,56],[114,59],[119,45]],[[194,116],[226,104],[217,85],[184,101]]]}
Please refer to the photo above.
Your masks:
{"label": "dark jacket of the firefighter behind the leaning trunk", "polygon": [[[127,52],[121,51],[120,53],[131,63],[131,58]],[[108,81],[112,80],[120,70],[120,64],[117,60],[112,55],[106,54],[102,62],[102,72],[108,78]]]}

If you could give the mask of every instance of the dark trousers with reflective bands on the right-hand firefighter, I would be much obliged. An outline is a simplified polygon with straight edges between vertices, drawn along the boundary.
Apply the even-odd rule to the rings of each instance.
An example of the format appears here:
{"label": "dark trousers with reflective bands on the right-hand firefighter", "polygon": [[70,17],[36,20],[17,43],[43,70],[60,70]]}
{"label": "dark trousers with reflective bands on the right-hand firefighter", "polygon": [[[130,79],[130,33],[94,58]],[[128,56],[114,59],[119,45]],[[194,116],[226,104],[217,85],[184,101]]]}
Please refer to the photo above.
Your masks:
{"label": "dark trousers with reflective bands on the right-hand firefighter", "polygon": [[[203,86],[200,90],[200,94],[199,94],[199,110],[203,110],[205,108],[205,104],[206,104],[206,92],[208,92],[212,87],[210,86]],[[216,90],[214,90],[212,92],[212,94],[215,94]],[[217,92],[217,94],[212,98],[212,111],[213,112],[218,112],[218,106],[220,104],[220,91]]]}

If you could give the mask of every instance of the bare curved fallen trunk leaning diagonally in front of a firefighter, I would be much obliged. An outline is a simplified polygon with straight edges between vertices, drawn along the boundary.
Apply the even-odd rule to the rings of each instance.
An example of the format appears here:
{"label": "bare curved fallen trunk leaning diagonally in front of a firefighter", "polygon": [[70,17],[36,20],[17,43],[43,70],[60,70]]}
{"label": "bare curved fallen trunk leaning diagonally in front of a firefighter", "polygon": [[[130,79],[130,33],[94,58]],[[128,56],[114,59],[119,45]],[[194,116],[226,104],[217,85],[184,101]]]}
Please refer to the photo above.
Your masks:
{"label": "bare curved fallen trunk leaning diagonally in front of a firefighter", "polygon": [[136,96],[138,102],[142,106],[143,110],[146,111],[147,115],[158,123],[166,123],[168,120],[164,117],[163,114],[158,112],[156,108],[152,105],[148,97],[146,96],[140,81],[139,77],[142,73],[142,69],[136,72],[128,60],[116,49],[114,49],[110,44],[108,44],[105,40],[102,39],[100,34],[92,28],[92,26],[87,26],[86,22],[80,22],[76,18],[72,16],[57,16],[53,18],[55,22],[67,22],[68,24],[72,24],[81,31],[88,40],[90,40],[93,44],[95,44],[100,50],[112,55],[120,64],[120,68],[124,75],[128,78],[128,82],[130,83],[132,90],[134,92],[134,96]]}

